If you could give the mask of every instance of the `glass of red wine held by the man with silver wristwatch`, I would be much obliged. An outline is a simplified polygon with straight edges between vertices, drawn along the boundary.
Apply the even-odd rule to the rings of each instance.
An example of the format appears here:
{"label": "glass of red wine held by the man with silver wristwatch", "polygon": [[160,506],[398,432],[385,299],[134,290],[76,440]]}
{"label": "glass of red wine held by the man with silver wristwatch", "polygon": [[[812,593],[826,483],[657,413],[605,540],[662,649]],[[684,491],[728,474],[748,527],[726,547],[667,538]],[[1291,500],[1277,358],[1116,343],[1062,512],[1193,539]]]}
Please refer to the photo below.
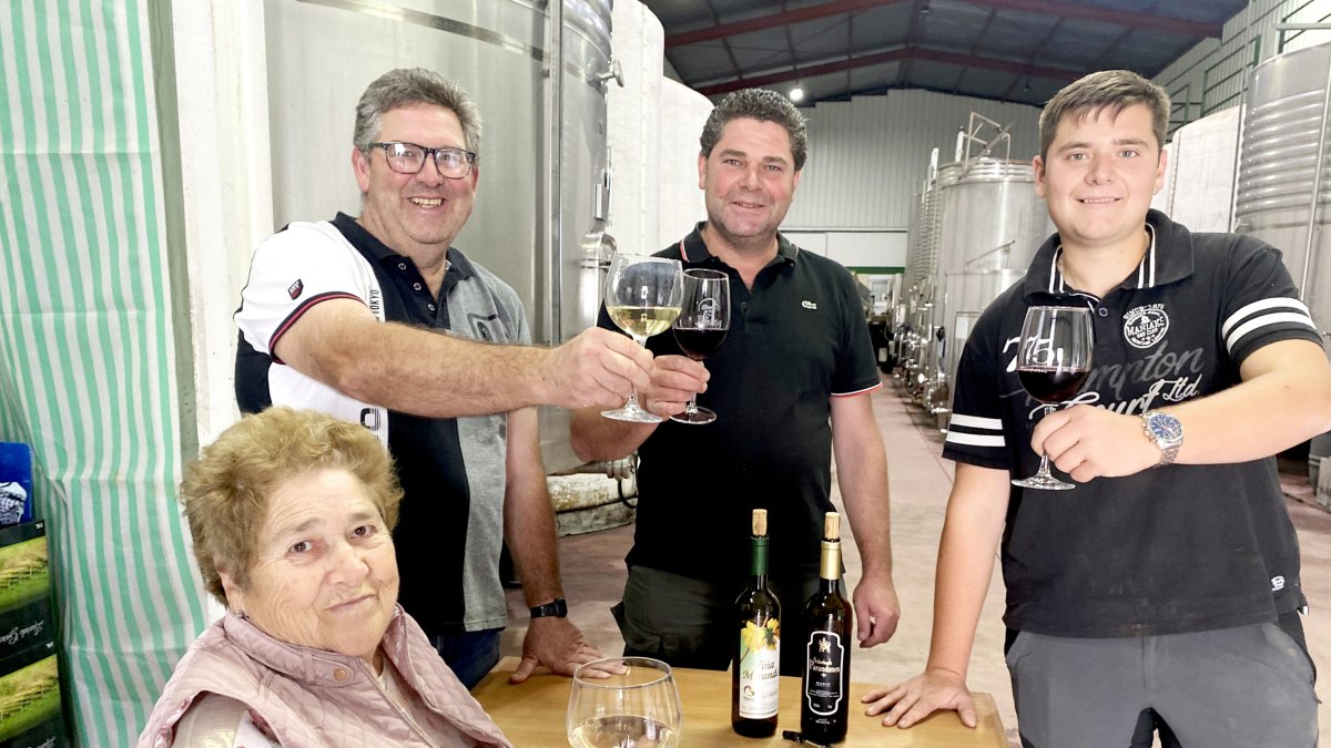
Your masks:
{"label": "glass of red wine held by the man with silver wristwatch", "polygon": [[[1045,415],[1071,398],[1090,377],[1095,351],[1094,322],[1086,306],[1032,306],[1021,326],[1017,378],[1026,394],[1045,403]],[[1013,480],[1022,488],[1066,491],[1075,488],[1049,472],[1049,455],[1040,455],[1040,471]]]}

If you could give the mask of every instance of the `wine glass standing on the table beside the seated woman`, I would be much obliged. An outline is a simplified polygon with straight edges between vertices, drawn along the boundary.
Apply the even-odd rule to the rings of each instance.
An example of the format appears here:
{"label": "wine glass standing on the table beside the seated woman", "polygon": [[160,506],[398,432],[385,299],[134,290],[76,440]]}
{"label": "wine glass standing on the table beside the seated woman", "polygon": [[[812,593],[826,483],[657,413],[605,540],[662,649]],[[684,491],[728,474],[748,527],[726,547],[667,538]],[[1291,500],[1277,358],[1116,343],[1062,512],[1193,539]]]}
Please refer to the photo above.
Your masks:
{"label": "wine glass standing on the table beside the seated woman", "polygon": [[675,676],[660,660],[607,657],[574,671],[564,717],[574,748],[673,748],[683,723]]}

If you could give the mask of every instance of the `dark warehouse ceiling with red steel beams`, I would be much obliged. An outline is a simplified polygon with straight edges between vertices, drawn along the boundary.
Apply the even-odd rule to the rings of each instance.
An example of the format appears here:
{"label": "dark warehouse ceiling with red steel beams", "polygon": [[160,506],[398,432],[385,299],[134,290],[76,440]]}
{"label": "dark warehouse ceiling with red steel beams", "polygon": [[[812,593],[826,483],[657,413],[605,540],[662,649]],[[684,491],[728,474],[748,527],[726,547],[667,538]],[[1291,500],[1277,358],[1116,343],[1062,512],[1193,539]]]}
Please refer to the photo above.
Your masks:
{"label": "dark warehouse ceiling with red steel beams", "polygon": [[643,0],[680,80],[801,105],[922,88],[1042,105],[1085,73],[1154,77],[1247,0]]}

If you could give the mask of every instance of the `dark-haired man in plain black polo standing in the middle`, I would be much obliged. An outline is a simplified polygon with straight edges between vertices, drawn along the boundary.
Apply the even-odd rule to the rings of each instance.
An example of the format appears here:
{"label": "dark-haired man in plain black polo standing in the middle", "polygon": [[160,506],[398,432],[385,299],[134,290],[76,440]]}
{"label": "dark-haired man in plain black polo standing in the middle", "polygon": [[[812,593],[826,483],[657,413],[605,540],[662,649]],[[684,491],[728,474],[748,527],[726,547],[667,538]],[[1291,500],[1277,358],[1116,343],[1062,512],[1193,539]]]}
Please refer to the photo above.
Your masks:
{"label": "dark-haired man in plain black polo standing in the middle", "polygon": [[[707,221],[660,253],[729,276],[731,326],[705,369],[684,358],[672,335],[650,338],[655,370],[640,399],[667,417],[701,393],[699,403],[716,421],[636,425],[602,418],[599,409],[574,414],[579,457],[614,459],[638,449],[642,459],[628,583],[616,610],[628,654],[728,667],[749,515],[765,507],[772,587],[784,614],[781,672],[803,672],[799,611],[817,587],[833,451],[864,562],[853,596],[860,646],[886,642],[896,630],[886,457],[869,397],[880,381],[864,307],[844,268],[777,232],[805,140],[804,117],[781,94],[727,96],[708,117],[697,158]],[[600,326],[614,329],[604,309]]]}

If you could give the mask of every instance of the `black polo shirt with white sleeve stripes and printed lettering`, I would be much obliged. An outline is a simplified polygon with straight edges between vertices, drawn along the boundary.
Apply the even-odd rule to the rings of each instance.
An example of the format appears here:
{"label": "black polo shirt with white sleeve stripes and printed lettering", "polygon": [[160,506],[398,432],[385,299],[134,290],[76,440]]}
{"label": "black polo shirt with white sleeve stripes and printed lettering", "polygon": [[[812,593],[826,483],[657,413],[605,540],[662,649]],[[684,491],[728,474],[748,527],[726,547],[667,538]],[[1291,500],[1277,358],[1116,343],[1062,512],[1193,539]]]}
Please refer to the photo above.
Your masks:
{"label": "black polo shirt with white sleeve stripes and printed lettering", "polygon": [[[1239,383],[1242,362],[1268,343],[1320,343],[1274,248],[1194,234],[1155,210],[1146,230],[1153,241],[1137,272],[1105,298],[1071,289],[1058,272],[1058,236],[1045,242],[1025,281],[966,341],[944,457],[1014,476],[1036,471],[1040,403],[1022,391],[1014,359],[1028,306],[1094,310],[1091,375],[1065,405],[1130,415]],[[1004,620],[1047,635],[1206,631],[1275,622],[1304,604],[1274,458],[1173,465],[1071,491],[1014,486],[1002,568]]]}

